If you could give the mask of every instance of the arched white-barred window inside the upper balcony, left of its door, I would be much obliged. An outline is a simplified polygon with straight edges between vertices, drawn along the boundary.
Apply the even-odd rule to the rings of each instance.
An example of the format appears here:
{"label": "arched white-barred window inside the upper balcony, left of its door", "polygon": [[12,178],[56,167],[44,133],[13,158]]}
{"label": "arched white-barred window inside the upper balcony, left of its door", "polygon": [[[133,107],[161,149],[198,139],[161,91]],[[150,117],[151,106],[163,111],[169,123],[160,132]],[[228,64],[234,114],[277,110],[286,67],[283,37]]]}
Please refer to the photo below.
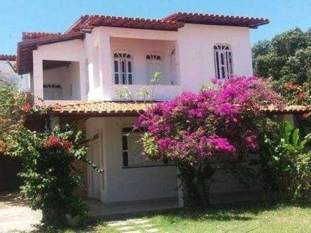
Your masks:
{"label": "arched white-barred window inside the upper balcony, left of its door", "polygon": [[133,83],[133,58],[130,53],[115,52],[114,73],[115,84],[132,84]]}

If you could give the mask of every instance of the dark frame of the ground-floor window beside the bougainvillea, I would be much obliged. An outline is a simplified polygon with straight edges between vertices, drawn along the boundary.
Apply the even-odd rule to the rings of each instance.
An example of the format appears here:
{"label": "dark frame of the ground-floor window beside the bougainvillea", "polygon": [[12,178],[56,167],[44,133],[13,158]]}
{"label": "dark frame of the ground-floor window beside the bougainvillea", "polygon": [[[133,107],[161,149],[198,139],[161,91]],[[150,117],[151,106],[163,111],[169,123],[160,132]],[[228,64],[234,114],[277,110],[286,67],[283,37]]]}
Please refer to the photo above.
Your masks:
{"label": "dark frame of the ground-floor window beside the bougainvillea", "polygon": [[[123,129],[127,129],[126,132],[123,131]],[[131,166],[129,165],[129,145],[128,145],[128,135],[129,133],[144,133],[145,129],[139,129],[137,132],[133,132],[133,126],[131,125],[124,125],[121,127],[121,157],[122,157],[122,169],[130,169],[130,168],[144,168],[144,167],[158,167],[158,166],[172,166],[170,163],[163,163],[163,164],[151,164],[151,165],[137,165],[137,166]],[[125,138],[123,140],[123,138]],[[126,145],[124,145],[124,141],[126,140]],[[125,156],[127,156],[125,158]],[[126,160],[126,164],[124,164]],[[155,162],[160,163],[160,162]]]}

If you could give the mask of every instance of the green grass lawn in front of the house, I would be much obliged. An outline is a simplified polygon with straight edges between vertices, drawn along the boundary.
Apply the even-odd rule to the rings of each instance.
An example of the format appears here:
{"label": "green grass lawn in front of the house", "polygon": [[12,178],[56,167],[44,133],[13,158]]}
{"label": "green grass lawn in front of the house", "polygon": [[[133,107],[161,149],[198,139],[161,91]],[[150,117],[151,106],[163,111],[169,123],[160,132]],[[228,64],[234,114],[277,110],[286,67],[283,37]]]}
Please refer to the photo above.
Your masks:
{"label": "green grass lawn in front of the house", "polygon": [[[157,228],[159,233],[311,233],[311,205],[184,210],[135,217],[148,220],[148,224]],[[146,233],[137,226],[134,230]],[[58,229],[58,232],[121,233],[116,227],[108,227],[104,221],[83,230]]]}

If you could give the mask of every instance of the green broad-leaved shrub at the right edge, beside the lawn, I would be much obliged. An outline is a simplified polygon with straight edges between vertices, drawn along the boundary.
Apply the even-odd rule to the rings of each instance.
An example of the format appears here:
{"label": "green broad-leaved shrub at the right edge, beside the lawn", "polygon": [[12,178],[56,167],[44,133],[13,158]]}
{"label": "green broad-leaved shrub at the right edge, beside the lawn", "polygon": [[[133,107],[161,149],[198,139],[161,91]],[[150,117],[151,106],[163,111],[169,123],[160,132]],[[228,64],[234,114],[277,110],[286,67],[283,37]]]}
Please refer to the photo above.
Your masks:
{"label": "green broad-leaved shrub at the right edge, beside the lawn", "polygon": [[266,136],[261,154],[265,172],[273,177],[281,200],[298,201],[311,197],[311,151],[306,146],[311,133],[300,139],[299,129],[289,122],[279,124],[276,132]]}

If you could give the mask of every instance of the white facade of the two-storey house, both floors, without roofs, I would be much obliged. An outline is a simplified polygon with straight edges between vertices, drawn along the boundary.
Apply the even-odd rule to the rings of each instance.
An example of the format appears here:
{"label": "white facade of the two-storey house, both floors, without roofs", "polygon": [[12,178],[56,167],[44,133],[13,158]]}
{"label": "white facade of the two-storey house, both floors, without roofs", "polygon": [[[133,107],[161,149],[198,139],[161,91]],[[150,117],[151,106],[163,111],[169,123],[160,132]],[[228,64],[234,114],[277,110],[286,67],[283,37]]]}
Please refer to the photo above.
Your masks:
{"label": "white facade of the two-storey house, both floors, without roofs", "polygon": [[[231,59],[233,74],[252,75],[247,27],[186,24],[177,32],[95,27],[83,40],[42,45],[34,50],[31,91],[37,97],[57,102],[118,100],[116,90],[125,86],[121,83],[126,83],[132,92],[151,88],[150,75],[160,71],[162,77],[155,87],[154,99],[170,100],[183,91],[197,91],[216,77],[215,45],[230,48],[226,61]],[[47,61],[66,65],[47,68]],[[49,84],[56,86],[48,89]],[[88,197],[106,203],[181,197],[176,191],[177,170],[173,166],[124,166],[122,128],[135,120],[87,119],[88,137],[96,135],[89,158],[104,167],[104,175],[88,170]],[[218,190],[223,191],[227,190]]]}

